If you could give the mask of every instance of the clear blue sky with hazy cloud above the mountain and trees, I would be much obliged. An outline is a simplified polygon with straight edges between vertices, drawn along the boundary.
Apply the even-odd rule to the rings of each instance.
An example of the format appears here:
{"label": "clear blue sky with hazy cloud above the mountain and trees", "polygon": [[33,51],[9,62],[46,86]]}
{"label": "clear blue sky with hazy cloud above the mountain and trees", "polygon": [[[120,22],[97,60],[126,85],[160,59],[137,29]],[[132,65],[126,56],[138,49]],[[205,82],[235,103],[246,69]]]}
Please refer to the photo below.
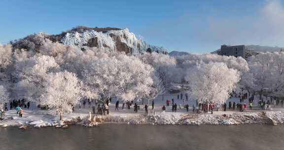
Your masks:
{"label": "clear blue sky with hazy cloud above the mountain and trees", "polygon": [[191,53],[221,44],[284,47],[281,0],[1,0],[0,43],[72,27],[117,27]]}

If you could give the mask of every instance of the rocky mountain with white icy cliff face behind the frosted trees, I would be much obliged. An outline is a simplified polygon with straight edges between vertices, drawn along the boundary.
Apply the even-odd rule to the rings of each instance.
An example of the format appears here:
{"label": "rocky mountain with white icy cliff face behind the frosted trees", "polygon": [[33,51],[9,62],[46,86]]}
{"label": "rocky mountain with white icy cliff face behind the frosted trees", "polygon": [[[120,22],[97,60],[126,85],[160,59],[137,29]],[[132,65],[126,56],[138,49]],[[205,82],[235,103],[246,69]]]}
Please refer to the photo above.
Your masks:
{"label": "rocky mountain with white icy cliff face behind the frosted trees", "polygon": [[108,48],[111,51],[123,51],[130,54],[147,52],[167,53],[167,49],[147,44],[142,39],[136,38],[134,33],[119,28],[88,28],[75,27],[58,35],[44,33],[27,36],[23,39],[12,41],[14,48],[37,50],[45,39],[65,45],[77,46],[82,50],[87,47]]}

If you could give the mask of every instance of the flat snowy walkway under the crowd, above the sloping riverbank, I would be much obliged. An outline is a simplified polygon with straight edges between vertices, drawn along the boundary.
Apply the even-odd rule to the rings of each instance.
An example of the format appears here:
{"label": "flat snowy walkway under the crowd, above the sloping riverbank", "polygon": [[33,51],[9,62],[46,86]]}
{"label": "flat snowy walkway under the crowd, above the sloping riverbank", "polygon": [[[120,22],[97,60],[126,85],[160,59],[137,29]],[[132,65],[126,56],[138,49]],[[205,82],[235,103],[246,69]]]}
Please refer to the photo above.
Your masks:
{"label": "flat snowy walkway under the crowd, above the sloping riverbank", "polygon": [[[177,96],[177,95],[175,95]],[[165,105],[166,106],[166,100],[169,99],[170,101],[172,101],[172,95],[165,95],[164,96],[164,100],[162,99],[162,96],[160,95],[159,97],[157,97],[154,100],[154,110],[152,110],[151,107],[151,101],[149,102],[148,106],[148,110],[150,112],[150,114],[153,114],[155,112],[155,114],[162,114],[162,106]],[[226,101],[227,103],[227,107],[228,107],[228,103],[229,101],[236,102],[239,103],[239,99],[238,98],[231,98],[228,99]],[[130,115],[135,115],[135,114],[145,114],[144,111],[144,105],[148,104],[148,101],[145,101],[144,104],[142,105],[142,101],[138,103],[138,105],[140,106],[140,110],[135,113],[134,112],[134,105],[131,106],[130,110],[127,110],[127,107],[125,105],[124,110],[122,110],[122,102],[119,103],[119,111],[115,111],[115,102],[116,100],[113,98],[112,102],[109,104],[109,110],[110,110],[110,116],[123,116],[123,117],[127,117]],[[248,104],[248,99],[246,99],[244,101],[245,103]],[[227,109],[226,112],[224,112],[222,109],[220,109],[219,111],[214,111],[214,114],[244,114],[244,113],[253,113],[253,112],[261,112],[261,110],[259,109],[259,107],[257,107],[257,100],[254,100],[253,102],[253,110],[246,110],[245,112],[239,112],[239,111],[230,111]],[[175,99],[175,102],[178,105],[178,110],[177,112],[172,112],[172,107],[166,107],[166,113],[165,115],[168,116],[178,116],[181,114],[195,114],[196,112],[192,112],[192,106],[196,105],[196,101],[185,101],[185,104],[188,104],[190,106],[190,110],[189,112],[186,112],[186,109],[184,109],[183,106],[183,100],[181,99]],[[63,118],[65,120],[70,120],[71,118],[77,118],[77,117],[87,117],[89,115],[89,112],[92,112],[92,106],[94,105],[94,102],[91,103],[91,105],[89,105],[88,103],[85,105],[85,108],[83,108],[83,106],[81,106],[82,109],[79,109],[78,107],[75,108],[75,111],[70,113],[70,114],[64,114]],[[179,105],[181,105],[181,109],[179,108]],[[0,126],[4,125],[36,125],[36,124],[48,124],[48,125],[52,125],[54,122],[57,122],[59,120],[59,115],[54,115],[51,114],[50,111],[45,111],[45,110],[40,110],[39,108],[36,108],[36,105],[33,104],[31,106],[31,108],[28,110],[26,108],[23,109],[24,110],[24,115],[23,117],[19,117],[19,115],[16,113],[15,110],[9,110],[6,112],[5,115],[5,119],[0,121]],[[284,111],[284,108],[282,107],[276,107],[273,108],[273,111]],[[97,112],[97,110],[96,110]],[[205,113],[201,113],[201,114],[205,114]],[[208,113],[210,114],[210,112]],[[98,114],[95,114],[98,115]]]}

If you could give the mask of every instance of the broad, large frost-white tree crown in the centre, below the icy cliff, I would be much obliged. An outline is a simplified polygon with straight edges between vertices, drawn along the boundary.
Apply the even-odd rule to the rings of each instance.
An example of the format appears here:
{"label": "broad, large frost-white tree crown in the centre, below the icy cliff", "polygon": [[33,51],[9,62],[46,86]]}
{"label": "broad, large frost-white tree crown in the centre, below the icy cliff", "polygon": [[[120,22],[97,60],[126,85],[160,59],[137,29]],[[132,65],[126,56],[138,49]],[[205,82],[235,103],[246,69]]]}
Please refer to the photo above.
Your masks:
{"label": "broad, large frost-white tree crown in the centre, below the icy cliff", "polygon": [[137,57],[98,51],[87,60],[84,82],[102,101],[111,96],[120,100],[140,100],[149,94],[153,68]]}

